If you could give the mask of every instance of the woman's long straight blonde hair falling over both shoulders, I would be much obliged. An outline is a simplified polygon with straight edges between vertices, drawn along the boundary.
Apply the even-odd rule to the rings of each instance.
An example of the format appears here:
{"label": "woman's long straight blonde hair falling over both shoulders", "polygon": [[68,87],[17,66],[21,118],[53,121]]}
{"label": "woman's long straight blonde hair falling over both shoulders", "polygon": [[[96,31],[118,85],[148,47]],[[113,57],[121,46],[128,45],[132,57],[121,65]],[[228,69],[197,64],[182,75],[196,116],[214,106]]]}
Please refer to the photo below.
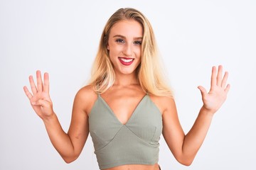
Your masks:
{"label": "woman's long straight blonde hair falling over both shoulders", "polygon": [[100,38],[99,49],[92,65],[92,74],[89,84],[98,94],[109,89],[115,80],[114,69],[110,61],[107,42],[110,30],[115,23],[125,20],[139,22],[143,28],[142,62],[137,67],[137,79],[147,94],[156,96],[172,96],[171,89],[166,83],[162,65],[159,61],[159,52],[154,38],[151,24],[146,17],[134,8],[119,8],[107,21]]}

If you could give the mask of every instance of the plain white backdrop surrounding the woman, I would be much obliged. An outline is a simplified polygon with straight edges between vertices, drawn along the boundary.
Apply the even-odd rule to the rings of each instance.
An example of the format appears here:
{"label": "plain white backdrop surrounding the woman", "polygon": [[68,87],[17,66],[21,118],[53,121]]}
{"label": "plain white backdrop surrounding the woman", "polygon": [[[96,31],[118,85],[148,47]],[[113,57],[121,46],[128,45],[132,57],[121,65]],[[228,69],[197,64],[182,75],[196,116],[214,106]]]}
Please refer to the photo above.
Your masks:
{"label": "plain white backdrop surrounding the woman", "polygon": [[230,72],[228,99],[193,164],[178,164],[161,137],[162,168],[255,169],[256,3],[249,0],[0,0],[0,169],[98,169],[90,137],[78,160],[63,162],[23,86],[37,69],[49,72],[54,109],[67,131],[102,29],[121,7],[151,21],[185,132],[201,108],[197,86],[209,87],[211,67],[223,64]]}

